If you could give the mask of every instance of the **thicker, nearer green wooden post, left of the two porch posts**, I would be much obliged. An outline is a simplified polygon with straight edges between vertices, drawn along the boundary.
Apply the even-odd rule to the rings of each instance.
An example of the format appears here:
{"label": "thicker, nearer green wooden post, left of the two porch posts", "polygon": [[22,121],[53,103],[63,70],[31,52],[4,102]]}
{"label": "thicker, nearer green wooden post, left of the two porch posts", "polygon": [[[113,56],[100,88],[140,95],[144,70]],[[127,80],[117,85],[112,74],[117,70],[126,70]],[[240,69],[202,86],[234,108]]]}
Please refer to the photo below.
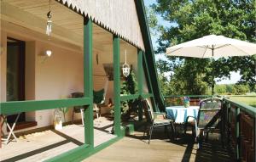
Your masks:
{"label": "thicker, nearer green wooden post, left of the two porch posts", "polygon": [[84,142],[94,148],[92,65],[92,20],[84,18],[84,97],[90,98],[84,109]]}

